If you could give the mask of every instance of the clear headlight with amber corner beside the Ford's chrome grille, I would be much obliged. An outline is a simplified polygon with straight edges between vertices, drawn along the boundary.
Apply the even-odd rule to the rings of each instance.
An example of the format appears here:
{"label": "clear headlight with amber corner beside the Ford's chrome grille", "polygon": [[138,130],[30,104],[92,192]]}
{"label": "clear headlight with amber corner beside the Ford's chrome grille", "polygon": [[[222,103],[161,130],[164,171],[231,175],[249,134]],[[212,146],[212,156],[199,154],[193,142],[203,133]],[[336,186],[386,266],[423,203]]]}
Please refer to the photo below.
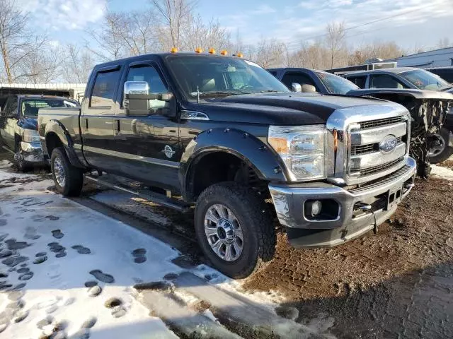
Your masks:
{"label": "clear headlight with amber corner beside the Ford's chrome grille", "polygon": [[326,177],[326,126],[269,126],[268,143],[285,162],[292,181]]}

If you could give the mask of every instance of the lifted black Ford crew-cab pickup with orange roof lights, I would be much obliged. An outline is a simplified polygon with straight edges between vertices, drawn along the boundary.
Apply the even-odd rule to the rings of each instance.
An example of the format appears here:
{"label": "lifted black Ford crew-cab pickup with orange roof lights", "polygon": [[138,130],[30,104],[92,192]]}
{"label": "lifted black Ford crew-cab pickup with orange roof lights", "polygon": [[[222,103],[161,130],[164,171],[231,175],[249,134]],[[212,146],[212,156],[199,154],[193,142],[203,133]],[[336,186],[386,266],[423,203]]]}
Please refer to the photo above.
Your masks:
{"label": "lifted black Ford crew-cab pickup with orange roof lights", "polygon": [[377,230],[413,187],[410,122],[394,102],[292,93],[239,57],[166,53],[96,66],[81,108],[40,109],[38,131],[57,191],[85,174],[195,207],[202,251],[243,278],[273,258],[275,216],[296,247]]}

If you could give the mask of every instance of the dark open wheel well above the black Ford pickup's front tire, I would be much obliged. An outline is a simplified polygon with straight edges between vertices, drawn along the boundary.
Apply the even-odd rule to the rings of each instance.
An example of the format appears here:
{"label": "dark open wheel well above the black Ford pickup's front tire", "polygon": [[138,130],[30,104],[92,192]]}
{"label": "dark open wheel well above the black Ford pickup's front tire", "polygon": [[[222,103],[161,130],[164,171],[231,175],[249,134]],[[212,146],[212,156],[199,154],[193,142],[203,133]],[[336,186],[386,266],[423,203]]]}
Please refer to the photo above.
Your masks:
{"label": "dark open wheel well above the black Ford pickup's front tire", "polygon": [[241,182],[258,191],[267,190],[267,182],[260,180],[256,171],[236,155],[214,152],[201,157],[190,169],[188,197],[194,200],[212,184]]}

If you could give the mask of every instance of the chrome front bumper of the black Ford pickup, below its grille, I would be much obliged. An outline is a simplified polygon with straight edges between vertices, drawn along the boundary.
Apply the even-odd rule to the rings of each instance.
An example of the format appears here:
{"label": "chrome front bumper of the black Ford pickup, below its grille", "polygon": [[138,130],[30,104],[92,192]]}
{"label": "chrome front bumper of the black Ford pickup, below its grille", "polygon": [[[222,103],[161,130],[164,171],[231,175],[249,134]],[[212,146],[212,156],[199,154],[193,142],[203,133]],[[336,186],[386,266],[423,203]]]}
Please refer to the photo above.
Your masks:
{"label": "chrome front bumper of the black Ford pickup, below its grille", "polygon": [[[336,246],[360,237],[389,218],[411,191],[415,172],[415,160],[408,157],[403,167],[395,172],[354,189],[314,182],[270,184],[269,190],[278,220],[287,227],[293,246]],[[329,218],[307,217],[306,201],[333,201],[338,209]],[[358,203],[370,205],[372,210],[360,210]]]}

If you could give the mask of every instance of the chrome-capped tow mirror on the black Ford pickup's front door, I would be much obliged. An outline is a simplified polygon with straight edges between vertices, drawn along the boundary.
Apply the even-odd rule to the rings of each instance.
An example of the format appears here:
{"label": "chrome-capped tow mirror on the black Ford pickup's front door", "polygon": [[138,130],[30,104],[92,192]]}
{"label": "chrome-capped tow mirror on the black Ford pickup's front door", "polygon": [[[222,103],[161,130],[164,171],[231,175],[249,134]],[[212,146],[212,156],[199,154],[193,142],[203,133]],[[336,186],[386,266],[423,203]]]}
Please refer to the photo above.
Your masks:
{"label": "chrome-capped tow mirror on the black Ford pickup's front door", "polygon": [[150,94],[150,90],[147,81],[125,82],[122,105],[127,115],[147,116],[158,110],[164,115],[176,115],[173,93]]}

